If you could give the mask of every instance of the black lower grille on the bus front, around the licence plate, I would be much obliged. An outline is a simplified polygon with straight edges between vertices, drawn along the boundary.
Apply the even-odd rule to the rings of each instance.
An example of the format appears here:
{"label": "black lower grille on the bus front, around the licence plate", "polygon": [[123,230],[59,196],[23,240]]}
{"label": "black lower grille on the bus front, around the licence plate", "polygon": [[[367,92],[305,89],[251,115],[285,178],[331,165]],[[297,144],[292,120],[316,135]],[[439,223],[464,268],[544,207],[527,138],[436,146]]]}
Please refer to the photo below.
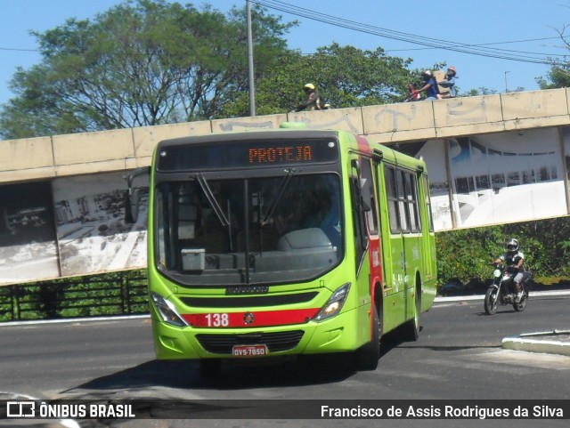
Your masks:
{"label": "black lower grille on the bus front, around the licence plate", "polygon": [[214,353],[232,353],[232,347],[240,344],[265,344],[269,351],[277,352],[295,348],[303,334],[303,330],[295,330],[243,335],[196,335],[196,339],[206,351]]}

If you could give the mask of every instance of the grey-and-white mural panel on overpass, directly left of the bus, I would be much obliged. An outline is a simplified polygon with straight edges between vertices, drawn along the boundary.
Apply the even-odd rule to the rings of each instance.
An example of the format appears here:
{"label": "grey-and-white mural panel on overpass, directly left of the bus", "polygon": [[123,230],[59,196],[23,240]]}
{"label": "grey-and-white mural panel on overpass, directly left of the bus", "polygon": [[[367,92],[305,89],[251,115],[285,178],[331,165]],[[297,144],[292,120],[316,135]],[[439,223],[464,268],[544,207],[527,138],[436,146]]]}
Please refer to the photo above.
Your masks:
{"label": "grey-and-white mural panel on overpass, directly left of the bus", "polygon": [[126,173],[53,181],[61,275],[120,271],[146,265],[148,185],[138,222],[125,222]]}

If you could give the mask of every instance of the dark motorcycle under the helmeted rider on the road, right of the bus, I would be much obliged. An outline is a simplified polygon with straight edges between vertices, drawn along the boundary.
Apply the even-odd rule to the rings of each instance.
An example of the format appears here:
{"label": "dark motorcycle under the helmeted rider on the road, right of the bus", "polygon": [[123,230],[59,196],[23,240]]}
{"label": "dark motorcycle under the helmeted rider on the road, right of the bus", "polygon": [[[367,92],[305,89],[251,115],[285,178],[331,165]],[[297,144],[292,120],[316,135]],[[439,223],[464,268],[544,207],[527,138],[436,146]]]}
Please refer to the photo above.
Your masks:
{"label": "dark motorcycle under the helmeted rider on the road, right of the bus", "polygon": [[523,295],[520,300],[517,301],[515,283],[513,281],[516,273],[515,269],[513,267],[504,266],[502,263],[491,264],[494,266],[493,282],[485,293],[485,312],[488,315],[493,315],[497,311],[499,304],[512,304],[515,311],[524,311],[526,303],[528,303],[531,272],[526,271],[524,273],[523,280],[520,283]]}

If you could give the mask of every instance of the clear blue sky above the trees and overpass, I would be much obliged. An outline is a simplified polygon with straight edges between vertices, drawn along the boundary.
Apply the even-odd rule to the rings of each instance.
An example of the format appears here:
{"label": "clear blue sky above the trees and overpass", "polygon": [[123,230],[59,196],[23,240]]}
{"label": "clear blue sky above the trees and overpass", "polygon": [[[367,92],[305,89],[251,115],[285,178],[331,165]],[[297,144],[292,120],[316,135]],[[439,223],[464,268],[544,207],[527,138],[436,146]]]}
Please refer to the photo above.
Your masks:
{"label": "clear blue sky above the trees and overpass", "polygon": [[[122,2],[0,0],[0,104],[13,96],[8,83],[16,68],[28,69],[40,61],[35,52],[36,39],[28,34],[30,30],[42,32],[55,28],[72,17],[94,18],[96,13],[105,12],[119,3]],[[198,7],[209,3],[227,12],[232,5],[246,4],[246,0],[183,0],[179,3],[192,3]],[[266,3],[288,11],[303,8],[298,10],[317,19],[349,20],[356,28],[369,26],[366,27],[369,33],[364,33],[270,8],[270,12],[281,15],[283,20],[299,21],[299,26],[287,36],[290,48],[310,53],[319,46],[335,42],[369,50],[381,46],[391,56],[413,59],[412,68],[426,69],[436,62],[447,62],[458,69],[460,92],[479,87],[499,93],[517,87],[536,90],[535,78],[546,76],[550,67],[529,61],[560,57],[567,52],[558,31],[570,25],[570,0],[266,0]],[[478,54],[428,48],[387,38],[387,32],[408,40],[412,36],[421,42],[437,39],[435,43],[439,46],[461,44],[460,49],[472,51],[476,48]],[[511,59],[524,57],[526,61],[490,58],[481,53]]]}

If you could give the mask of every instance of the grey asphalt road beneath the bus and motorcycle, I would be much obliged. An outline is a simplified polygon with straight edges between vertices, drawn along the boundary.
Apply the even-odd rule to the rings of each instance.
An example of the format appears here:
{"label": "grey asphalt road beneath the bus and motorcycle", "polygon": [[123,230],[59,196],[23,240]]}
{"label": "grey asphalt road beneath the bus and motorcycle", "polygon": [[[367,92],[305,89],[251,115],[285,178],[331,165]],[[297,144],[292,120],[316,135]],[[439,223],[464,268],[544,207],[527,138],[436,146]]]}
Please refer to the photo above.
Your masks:
{"label": "grey asphalt road beneath the bus and motorcycle", "polygon": [[[568,303],[570,296],[534,296],[523,312],[504,306],[493,316],[485,315],[482,299],[436,303],[420,318],[417,342],[386,338],[376,371],[355,372],[344,356],[322,356],[225,362],[222,376],[214,379],[201,378],[194,362],[154,359],[149,319],[0,325],[0,392],[42,399],[108,400],[568,400],[570,357],[501,349],[506,336],[569,329]],[[224,419],[200,424],[134,422],[107,426],[268,426],[266,421],[235,424]],[[458,422],[483,426],[472,420],[432,420],[421,426],[452,427]],[[539,424],[536,420],[483,422],[501,427]],[[291,426],[387,423],[418,426],[413,420],[360,424],[297,420]],[[540,421],[545,427],[567,423],[567,419]]]}

